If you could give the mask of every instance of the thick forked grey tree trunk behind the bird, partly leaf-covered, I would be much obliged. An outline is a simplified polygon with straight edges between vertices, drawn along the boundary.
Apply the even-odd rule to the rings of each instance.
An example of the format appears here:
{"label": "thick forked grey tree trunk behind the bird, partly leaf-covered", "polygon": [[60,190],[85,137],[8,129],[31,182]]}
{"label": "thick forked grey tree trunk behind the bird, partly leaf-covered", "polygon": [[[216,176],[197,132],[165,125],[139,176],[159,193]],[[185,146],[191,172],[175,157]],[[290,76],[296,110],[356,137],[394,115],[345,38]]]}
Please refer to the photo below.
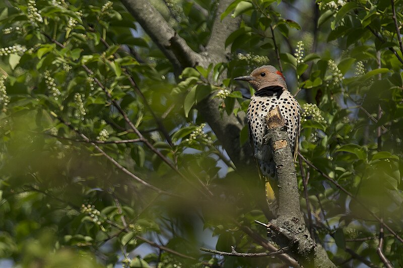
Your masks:
{"label": "thick forked grey tree trunk behind the bird, partly leaf-covered", "polygon": [[[187,66],[209,66],[210,63],[227,61],[225,40],[238,29],[240,18],[227,16],[221,21],[221,14],[232,0],[222,0],[219,3],[216,20],[214,21],[212,34],[206,48],[206,55],[201,56],[192,51],[185,40],[178,36],[171,26],[162,18],[161,14],[147,0],[121,0],[127,10],[140,23],[147,34],[157,46],[167,55],[176,69]],[[178,74],[178,73],[176,73]],[[245,125],[245,114],[238,116],[227,115],[219,110],[220,101],[217,98],[205,99],[197,105],[197,110],[205,118],[207,123],[222,142],[231,160],[239,168],[248,166],[252,159],[252,151],[248,144],[242,148],[239,145],[239,134]]]}

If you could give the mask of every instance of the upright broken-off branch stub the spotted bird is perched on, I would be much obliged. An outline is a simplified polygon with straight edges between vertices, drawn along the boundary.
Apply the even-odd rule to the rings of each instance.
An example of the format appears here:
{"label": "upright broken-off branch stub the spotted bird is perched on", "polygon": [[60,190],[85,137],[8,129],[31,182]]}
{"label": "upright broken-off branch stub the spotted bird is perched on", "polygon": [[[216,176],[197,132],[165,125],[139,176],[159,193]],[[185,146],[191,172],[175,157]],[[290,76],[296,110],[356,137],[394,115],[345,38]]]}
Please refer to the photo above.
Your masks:
{"label": "upright broken-off branch stub the spotted bird is perched on", "polygon": [[335,267],[326,251],[314,243],[306,230],[300,209],[298,182],[291,147],[277,106],[266,116],[267,134],[264,141],[272,150],[276,163],[279,193],[278,218],[266,225],[267,233],[281,247],[289,247],[290,255],[307,267]]}

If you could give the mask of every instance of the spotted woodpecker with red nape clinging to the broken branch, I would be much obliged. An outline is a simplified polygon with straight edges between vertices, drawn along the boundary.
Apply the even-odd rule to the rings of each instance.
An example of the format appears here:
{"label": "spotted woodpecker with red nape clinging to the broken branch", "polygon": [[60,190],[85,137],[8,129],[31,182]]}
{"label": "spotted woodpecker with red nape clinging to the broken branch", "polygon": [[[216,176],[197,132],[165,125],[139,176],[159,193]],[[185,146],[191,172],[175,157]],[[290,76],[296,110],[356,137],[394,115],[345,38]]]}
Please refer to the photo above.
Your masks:
{"label": "spotted woodpecker with red nape clinging to the broken branch", "polygon": [[260,170],[259,173],[264,178],[267,202],[273,204],[277,192],[276,165],[270,148],[263,141],[266,134],[265,116],[268,111],[279,106],[287,127],[291,152],[294,154],[295,161],[300,132],[300,106],[287,90],[284,75],[274,66],[264,65],[254,69],[250,75],[234,79],[248,81],[256,91],[250,98],[247,112],[249,140]]}

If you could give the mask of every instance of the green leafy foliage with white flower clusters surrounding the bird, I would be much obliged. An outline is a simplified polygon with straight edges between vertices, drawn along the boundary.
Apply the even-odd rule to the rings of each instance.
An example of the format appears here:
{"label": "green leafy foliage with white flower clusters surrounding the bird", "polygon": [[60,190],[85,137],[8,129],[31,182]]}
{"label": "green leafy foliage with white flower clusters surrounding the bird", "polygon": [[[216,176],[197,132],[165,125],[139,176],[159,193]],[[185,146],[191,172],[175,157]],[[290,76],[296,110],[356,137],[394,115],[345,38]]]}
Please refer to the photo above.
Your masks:
{"label": "green leafy foliage with white flower clusters surrounding the bird", "polygon": [[[153,3],[203,52],[218,1]],[[401,34],[401,1],[395,9]],[[257,177],[236,170],[195,105],[213,94],[222,113],[246,111],[248,92],[231,78],[278,66],[271,27],[304,108],[300,152],[403,235],[403,56],[390,1],[236,0],[226,16],[242,16],[226,40],[229,62],[185,68],[176,79],[118,1],[0,3],[2,260],[25,267],[266,266],[266,258],[198,250],[261,252],[237,223],[265,237],[253,223],[265,218],[256,210]],[[383,265],[379,222],[301,163],[310,174],[311,215],[299,174],[301,206],[316,242],[335,264]],[[403,266],[402,244],[388,231],[384,243],[386,257]]]}

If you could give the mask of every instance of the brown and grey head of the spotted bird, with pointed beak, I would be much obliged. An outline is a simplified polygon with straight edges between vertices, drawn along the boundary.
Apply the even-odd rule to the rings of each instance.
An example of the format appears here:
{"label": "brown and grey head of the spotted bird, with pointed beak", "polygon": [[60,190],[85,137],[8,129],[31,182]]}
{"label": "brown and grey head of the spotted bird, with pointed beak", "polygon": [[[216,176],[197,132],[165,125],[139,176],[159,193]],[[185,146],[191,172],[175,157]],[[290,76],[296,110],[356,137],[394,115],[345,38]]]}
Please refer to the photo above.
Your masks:
{"label": "brown and grey head of the spotted bird, with pointed beak", "polygon": [[279,85],[287,90],[284,75],[272,65],[263,65],[254,69],[250,75],[239,76],[234,80],[248,81],[255,91],[259,91],[267,86]]}

